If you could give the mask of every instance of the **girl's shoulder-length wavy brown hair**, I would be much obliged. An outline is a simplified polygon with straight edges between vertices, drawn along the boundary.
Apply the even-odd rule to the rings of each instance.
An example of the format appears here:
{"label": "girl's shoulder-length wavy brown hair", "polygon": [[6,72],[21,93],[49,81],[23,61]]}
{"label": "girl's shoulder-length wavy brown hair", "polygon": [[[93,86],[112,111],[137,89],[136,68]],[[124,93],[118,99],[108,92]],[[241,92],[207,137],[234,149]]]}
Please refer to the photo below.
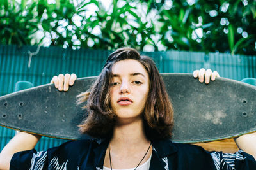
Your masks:
{"label": "girl's shoulder-length wavy brown hair", "polygon": [[171,137],[173,127],[173,108],[163,78],[156,64],[150,57],[141,56],[133,48],[120,48],[111,53],[102,72],[88,92],[79,94],[78,103],[83,106],[88,116],[83,124],[78,125],[79,131],[95,138],[109,138],[116,125],[116,115],[110,106],[109,88],[111,87],[113,64],[120,60],[134,59],[140,62],[149,76],[148,98],[143,110],[143,124],[148,139],[165,139]]}

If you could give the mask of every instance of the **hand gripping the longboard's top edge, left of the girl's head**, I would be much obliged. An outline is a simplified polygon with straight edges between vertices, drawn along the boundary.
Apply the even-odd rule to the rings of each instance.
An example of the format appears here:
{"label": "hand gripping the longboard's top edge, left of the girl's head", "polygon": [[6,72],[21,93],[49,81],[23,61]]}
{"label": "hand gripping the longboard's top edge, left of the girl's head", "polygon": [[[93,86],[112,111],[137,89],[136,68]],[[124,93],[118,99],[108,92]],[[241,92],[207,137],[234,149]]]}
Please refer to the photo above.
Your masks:
{"label": "hand gripping the longboard's top edge, left of the girl's head", "polygon": [[58,88],[59,91],[64,90],[67,92],[69,86],[74,85],[74,82],[76,81],[76,74],[72,73],[70,74],[59,74],[58,76],[54,76],[51,80],[51,84],[54,83],[55,87]]}

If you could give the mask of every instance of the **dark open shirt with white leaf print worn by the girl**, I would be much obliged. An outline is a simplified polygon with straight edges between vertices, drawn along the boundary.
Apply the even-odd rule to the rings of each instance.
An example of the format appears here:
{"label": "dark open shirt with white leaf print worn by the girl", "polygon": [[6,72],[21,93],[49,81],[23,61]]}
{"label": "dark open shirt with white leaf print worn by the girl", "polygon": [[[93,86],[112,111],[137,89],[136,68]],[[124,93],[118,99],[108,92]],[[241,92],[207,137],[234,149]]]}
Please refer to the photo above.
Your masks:
{"label": "dark open shirt with white leaf print worn by the girl", "polygon": [[[207,152],[196,145],[152,142],[150,170],[256,169],[256,161],[242,150],[234,154]],[[28,150],[13,155],[10,169],[103,169],[108,140],[78,140],[47,151]]]}

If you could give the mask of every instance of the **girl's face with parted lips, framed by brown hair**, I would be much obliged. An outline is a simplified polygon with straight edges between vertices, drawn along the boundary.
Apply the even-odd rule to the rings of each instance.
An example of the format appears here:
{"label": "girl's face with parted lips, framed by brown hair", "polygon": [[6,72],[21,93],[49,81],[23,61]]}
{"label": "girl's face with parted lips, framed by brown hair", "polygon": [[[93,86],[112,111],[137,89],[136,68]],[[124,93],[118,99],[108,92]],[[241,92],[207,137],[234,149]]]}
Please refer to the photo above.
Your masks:
{"label": "girl's face with parted lips, framed by brown hair", "polygon": [[149,90],[146,69],[137,60],[121,60],[113,64],[110,88],[111,108],[118,122],[141,118]]}

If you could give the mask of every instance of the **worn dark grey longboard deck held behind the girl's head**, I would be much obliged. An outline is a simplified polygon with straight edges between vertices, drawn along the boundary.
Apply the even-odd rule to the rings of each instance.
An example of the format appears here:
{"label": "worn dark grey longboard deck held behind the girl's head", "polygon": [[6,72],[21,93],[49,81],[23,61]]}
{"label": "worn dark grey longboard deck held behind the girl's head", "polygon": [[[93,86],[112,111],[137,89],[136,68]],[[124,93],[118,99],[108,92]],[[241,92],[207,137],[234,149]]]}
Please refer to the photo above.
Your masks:
{"label": "worn dark grey longboard deck held behind the girl's head", "polygon": [[[174,109],[172,141],[198,143],[256,131],[256,87],[227,78],[205,85],[187,73],[163,73]],[[95,77],[79,78],[68,92],[47,84],[0,97],[0,125],[61,139],[81,139],[86,110],[76,104]]]}

